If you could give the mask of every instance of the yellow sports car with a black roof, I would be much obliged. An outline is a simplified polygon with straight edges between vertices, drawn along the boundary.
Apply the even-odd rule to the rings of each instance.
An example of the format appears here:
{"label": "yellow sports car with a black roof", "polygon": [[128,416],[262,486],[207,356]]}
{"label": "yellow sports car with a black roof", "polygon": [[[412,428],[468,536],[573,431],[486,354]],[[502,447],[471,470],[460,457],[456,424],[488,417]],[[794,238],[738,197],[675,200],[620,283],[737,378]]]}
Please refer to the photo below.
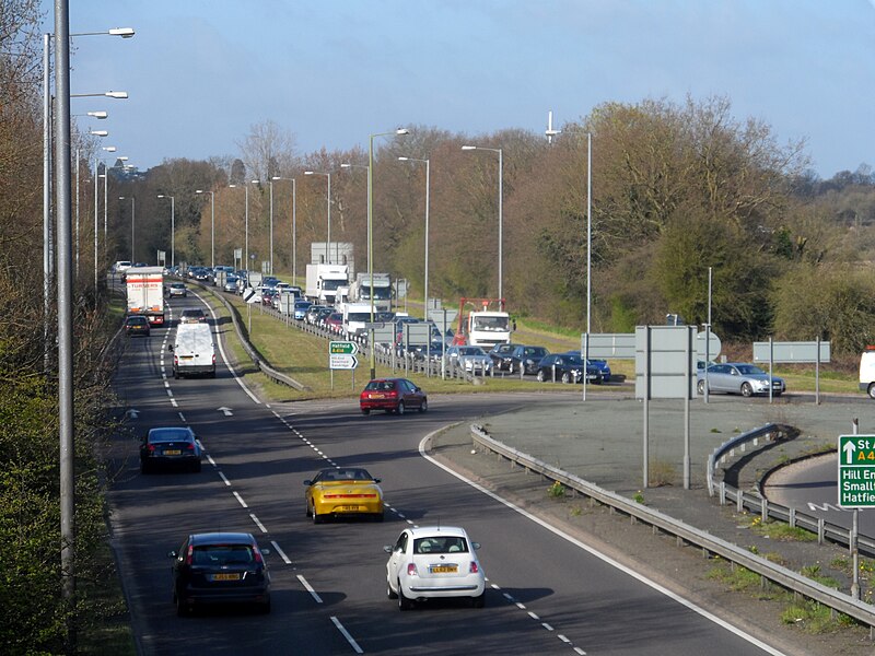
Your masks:
{"label": "yellow sports car with a black roof", "polygon": [[383,522],[383,490],[377,483],[380,479],[361,467],[323,469],[304,481],[307,517],[313,517],[313,524],[339,515],[366,515]]}

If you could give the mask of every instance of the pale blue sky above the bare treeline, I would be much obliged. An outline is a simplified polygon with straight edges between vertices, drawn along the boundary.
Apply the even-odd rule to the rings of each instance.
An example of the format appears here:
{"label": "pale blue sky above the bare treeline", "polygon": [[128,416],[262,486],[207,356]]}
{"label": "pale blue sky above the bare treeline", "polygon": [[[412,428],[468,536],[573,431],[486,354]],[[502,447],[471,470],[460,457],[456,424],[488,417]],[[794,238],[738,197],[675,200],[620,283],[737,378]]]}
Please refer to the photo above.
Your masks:
{"label": "pale blue sky above the bare treeline", "polygon": [[826,179],[875,165],[873,2],[70,0],[71,33],[137,32],[73,39],[71,93],[129,98],[71,112],[108,112],[80,125],[143,171],[238,156],[267,120],[306,154],[400,126],[544,133],[548,110],[561,128],[603,103],[720,96],[780,144],[805,140]]}

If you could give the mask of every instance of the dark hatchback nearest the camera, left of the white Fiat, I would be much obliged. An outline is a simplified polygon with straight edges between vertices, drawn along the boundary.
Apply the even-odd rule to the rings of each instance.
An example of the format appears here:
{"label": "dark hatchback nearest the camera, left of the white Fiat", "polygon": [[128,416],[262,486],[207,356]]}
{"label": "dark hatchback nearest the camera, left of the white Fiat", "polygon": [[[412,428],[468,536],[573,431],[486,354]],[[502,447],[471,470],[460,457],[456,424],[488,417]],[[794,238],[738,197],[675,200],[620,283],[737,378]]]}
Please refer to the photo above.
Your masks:
{"label": "dark hatchback nearest the camera, left of the white Fiat", "polygon": [[270,612],[270,573],[252,534],[205,532],[188,536],[173,558],[176,614],[198,606],[254,604]]}

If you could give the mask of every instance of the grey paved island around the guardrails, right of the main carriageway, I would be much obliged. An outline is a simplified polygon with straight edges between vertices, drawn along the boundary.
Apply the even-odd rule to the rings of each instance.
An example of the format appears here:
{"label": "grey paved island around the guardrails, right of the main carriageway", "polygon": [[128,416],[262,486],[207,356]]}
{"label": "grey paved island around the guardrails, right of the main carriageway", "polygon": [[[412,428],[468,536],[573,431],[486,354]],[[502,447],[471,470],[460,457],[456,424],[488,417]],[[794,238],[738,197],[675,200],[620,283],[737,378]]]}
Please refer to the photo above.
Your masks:
{"label": "grey paved island around the guardrails, right of the main carriageway", "polygon": [[[875,431],[875,405],[865,397],[824,397],[816,405],[813,395],[784,395],[744,399],[712,395],[710,402],[690,402],[690,487],[684,488],[682,400],[650,402],[650,479],[643,485],[643,403],[629,394],[591,390],[583,401],[576,393],[560,398],[528,397],[516,411],[486,415],[446,430],[432,438],[431,454],[480,484],[505,495],[537,514],[587,540],[602,544],[607,553],[646,572],[668,587],[697,598],[719,614],[733,617],[755,635],[768,637],[785,654],[873,654],[865,628],[843,629],[828,634],[809,634],[805,622],[790,624],[782,619],[785,607],[770,595],[731,593],[709,575],[713,563],[696,550],[678,549],[674,540],[654,537],[649,528],[630,526],[618,515],[592,509],[579,500],[550,499],[549,481],[511,468],[506,460],[471,448],[470,425],[483,426],[491,437],[604,489],[628,497],[643,496],[644,503],[724,540],[760,553],[796,572],[816,567],[819,575],[839,582],[850,590],[850,571],[839,563],[848,550],[836,544],[772,539],[768,531],[751,529],[756,520],[739,516],[734,505],[721,506],[708,494],[705,467],[713,449],[736,435],[768,423],[798,430],[792,440],[781,441],[747,456],[738,470],[738,487],[752,491],[766,472],[810,456],[835,453],[838,435],[852,432],[860,420],[860,433]],[[434,403],[434,401],[433,401]],[[730,464],[731,465],[731,464]],[[722,478],[722,477],[721,477]],[[836,503],[835,499],[825,500]],[[872,595],[873,582],[865,576],[861,590]]]}

